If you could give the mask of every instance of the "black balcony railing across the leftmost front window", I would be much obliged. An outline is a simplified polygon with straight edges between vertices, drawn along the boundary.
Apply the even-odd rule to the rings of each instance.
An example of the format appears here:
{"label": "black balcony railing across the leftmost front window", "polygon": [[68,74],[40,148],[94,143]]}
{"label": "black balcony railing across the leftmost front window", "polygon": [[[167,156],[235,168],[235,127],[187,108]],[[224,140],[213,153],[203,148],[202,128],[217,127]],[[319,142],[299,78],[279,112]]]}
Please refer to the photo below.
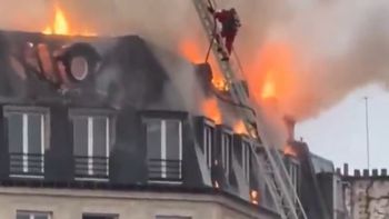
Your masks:
{"label": "black balcony railing across the leftmost front window", "polygon": [[11,152],[10,175],[17,176],[43,176],[44,156],[42,153]]}

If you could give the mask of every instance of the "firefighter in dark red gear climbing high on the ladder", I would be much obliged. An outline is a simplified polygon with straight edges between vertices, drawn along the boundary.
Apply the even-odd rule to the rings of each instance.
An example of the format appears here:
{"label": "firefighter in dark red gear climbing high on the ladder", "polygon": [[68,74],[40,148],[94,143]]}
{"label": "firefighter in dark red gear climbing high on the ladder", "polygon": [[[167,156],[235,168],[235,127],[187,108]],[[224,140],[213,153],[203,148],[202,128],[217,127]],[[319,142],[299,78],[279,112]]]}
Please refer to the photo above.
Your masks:
{"label": "firefighter in dark red gear climbing high on the ladder", "polygon": [[[241,27],[237,10],[235,8],[221,11],[215,11],[212,8],[208,8],[208,10],[213,14],[215,19],[221,23],[220,36],[222,39],[225,39],[225,46],[228,56],[230,56],[233,40],[238,33],[238,29]],[[218,42],[220,42],[218,37],[216,39]],[[228,60],[228,57],[225,57],[223,59]]]}

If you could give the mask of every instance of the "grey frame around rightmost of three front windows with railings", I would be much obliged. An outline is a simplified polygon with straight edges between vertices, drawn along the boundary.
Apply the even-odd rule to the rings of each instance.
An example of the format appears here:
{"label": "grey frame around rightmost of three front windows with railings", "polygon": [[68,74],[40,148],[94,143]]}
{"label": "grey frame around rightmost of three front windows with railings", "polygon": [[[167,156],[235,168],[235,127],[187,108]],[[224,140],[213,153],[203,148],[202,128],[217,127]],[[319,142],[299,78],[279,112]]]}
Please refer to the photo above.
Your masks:
{"label": "grey frame around rightmost of three front windows with railings", "polygon": [[[178,133],[178,140],[179,140],[179,156],[178,156],[178,161],[179,161],[179,173],[178,173],[178,180],[174,181],[170,181],[168,179],[168,171],[167,171],[167,167],[161,165],[161,176],[160,176],[160,180],[156,180],[156,179],[148,179],[149,182],[151,183],[182,183],[182,155],[183,155],[183,120],[181,118],[176,118],[176,117],[156,117],[156,116],[143,116],[142,117],[142,125],[146,128],[146,133],[144,133],[144,142],[146,142],[146,147],[148,148],[148,136],[147,136],[147,120],[156,120],[160,122],[160,159],[161,159],[161,163],[164,160],[164,163],[167,160],[167,156],[168,156],[168,148],[167,148],[167,137],[168,137],[168,132],[167,132],[167,121],[177,121],[179,125],[179,133]],[[149,161],[152,158],[149,158],[149,155],[147,153],[147,160]],[[168,180],[164,180],[168,179]]]}

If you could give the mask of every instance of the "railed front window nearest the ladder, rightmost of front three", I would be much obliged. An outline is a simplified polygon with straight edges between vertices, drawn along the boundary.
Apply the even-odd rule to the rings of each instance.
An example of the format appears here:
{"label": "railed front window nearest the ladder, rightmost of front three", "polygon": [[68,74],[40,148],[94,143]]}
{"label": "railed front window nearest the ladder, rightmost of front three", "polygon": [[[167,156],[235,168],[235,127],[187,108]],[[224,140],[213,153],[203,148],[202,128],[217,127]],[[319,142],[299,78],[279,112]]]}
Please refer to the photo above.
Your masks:
{"label": "railed front window nearest the ladder, rightmost of front three", "polygon": [[174,119],[144,119],[152,181],[180,181],[182,161],[182,123]]}

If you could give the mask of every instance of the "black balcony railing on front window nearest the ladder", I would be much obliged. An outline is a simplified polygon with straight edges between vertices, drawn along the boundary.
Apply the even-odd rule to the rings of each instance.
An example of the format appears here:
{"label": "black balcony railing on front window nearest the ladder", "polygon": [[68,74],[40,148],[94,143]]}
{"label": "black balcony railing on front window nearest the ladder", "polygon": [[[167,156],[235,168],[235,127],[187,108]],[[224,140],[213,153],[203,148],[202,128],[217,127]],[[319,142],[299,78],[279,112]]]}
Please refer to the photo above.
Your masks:
{"label": "black balcony railing on front window nearest the ladder", "polygon": [[150,181],[182,181],[182,161],[149,159],[149,180]]}

